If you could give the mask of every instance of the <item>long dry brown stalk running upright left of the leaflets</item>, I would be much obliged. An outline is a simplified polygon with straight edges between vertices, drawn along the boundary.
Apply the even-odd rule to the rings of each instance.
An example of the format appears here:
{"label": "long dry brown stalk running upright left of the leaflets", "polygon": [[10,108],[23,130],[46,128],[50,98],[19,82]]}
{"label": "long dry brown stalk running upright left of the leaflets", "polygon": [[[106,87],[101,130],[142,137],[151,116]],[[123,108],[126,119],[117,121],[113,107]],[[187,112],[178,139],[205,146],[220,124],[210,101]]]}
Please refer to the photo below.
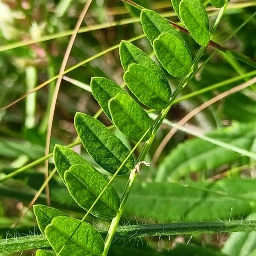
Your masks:
{"label": "long dry brown stalk running upright left of the leaflets", "polygon": [[[79,31],[79,28],[81,26],[81,23],[83,22],[84,17],[86,15],[86,13],[87,13],[87,11],[88,11],[92,1],[93,0],[87,0],[86,4],[84,5],[84,9],[82,10],[82,12],[81,12],[81,14],[79,16],[79,19],[78,19],[78,21],[76,23],[76,26],[75,26],[75,29],[73,31],[73,34],[71,35],[70,41],[69,41],[69,43],[67,45],[67,49],[66,49],[66,52],[64,54],[63,61],[61,63],[61,68],[60,68],[59,74],[62,74],[65,71],[65,68],[67,66],[67,61],[68,61],[68,58],[70,56],[71,49],[72,49],[73,44],[74,44],[75,39],[76,39],[76,35],[78,34],[78,31]],[[58,98],[58,92],[59,92],[59,89],[60,89],[60,86],[61,86],[61,79],[62,79],[62,76],[59,76],[57,81],[56,81],[55,90],[54,90],[54,93],[53,93],[53,96],[52,96],[52,104],[51,104],[51,108],[50,108],[50,111],[49,111],[49,122],[48,122],[48,127],[47,127],[45,155],[49,154],[50,140],[51,140],[51,133],[52,133],[52,122],[53,122],[55,106],[56,106],[56,102],[57,102],[57,98]],[[48,163],[49,163],[49,160],[48,159],[45,160],[45,166],[44,166],[44,168],[45,168],[44,179],[45,180],[48,177]],[[47,205],[50,205],[49,185],[48,184],[47,184],[47,186],[45,188],[45,194],[46,194],[46,198],[47,198]]]}

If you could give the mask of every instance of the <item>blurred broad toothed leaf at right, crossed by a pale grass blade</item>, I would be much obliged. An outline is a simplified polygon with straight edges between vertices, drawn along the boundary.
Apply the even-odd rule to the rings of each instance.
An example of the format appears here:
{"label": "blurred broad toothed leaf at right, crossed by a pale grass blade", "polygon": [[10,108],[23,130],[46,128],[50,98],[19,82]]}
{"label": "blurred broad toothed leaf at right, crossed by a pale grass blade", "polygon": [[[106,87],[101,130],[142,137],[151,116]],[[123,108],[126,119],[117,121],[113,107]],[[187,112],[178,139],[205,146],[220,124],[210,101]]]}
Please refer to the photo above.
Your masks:
{"label": "blurred broad toothed leaf at right, crossed by a pale grass blade", "polygon": [[[213,131],[208,137],[230,145],[256,152],[253,142],[256,138],[255,122],[236,124],[228,128]],[[178,179],[191,172],[215,169],[224,164],[241,160],[241,154],[219,147],[201,139],[192,139],[180,143],[160,164],[157,181]]]}

